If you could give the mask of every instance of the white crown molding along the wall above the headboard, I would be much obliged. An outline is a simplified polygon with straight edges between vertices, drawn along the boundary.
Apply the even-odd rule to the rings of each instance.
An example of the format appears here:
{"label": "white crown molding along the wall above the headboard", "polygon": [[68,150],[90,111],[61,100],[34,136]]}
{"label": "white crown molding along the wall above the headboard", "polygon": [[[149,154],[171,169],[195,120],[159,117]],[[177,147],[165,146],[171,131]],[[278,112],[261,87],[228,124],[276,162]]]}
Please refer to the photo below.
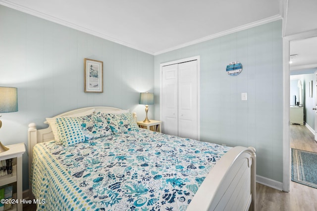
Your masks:
{"label": "white crown molding along the wall above the headboard", "polygon": [[96,36],[96,37],[99,37],[99,38],[102,38],[102,39],[105,39],[105,40],[108,40],[108,41],[111,41],[111,42],[115,42],[115,43],[130,47],[130,48],[133,48],[133,49],[136,49],[136,50],[140,50],[142,52],[154,55],[154,52],[152,52],[152,51],[148,51],[148,50],[139,48],[139,47],[134,46],[134,45],[132,45],[130,43],[117,40],[115,38],[106,36],[105,34],[96,32],[94,30],[91,30],[91,29],[88,29],[88,28],[85,28],[85,27],[70,23],[68,21],[61,20],[61,19],[53,17],[51,15],[48,15],[48,14],[45,14],[45,13],[30,9],[28,7],[25,7],[25,6],[21,6],[21,5],[16,4],[16,3],[12,3],[12,2],[7,1],[7,0],[0,0],[0,4],[3,5],[3,6],[9,7],[11,9],[15,9],[15,10],[18,10],[20,12],[27,13],[29,15],[34,15],[36,17],[43,18],[45,20],[52,21],[54,23],[57,23],[57,24],[60,24],[60,25],[63,25],[63,26],[69,27],[69,28],[72,28],[72,29],[75,29],[75,30],[78,30],[78,31],[81,31],[81,32],[85,32],[87,34],[90,34],[90,35],[93,35],[93,36]]}

